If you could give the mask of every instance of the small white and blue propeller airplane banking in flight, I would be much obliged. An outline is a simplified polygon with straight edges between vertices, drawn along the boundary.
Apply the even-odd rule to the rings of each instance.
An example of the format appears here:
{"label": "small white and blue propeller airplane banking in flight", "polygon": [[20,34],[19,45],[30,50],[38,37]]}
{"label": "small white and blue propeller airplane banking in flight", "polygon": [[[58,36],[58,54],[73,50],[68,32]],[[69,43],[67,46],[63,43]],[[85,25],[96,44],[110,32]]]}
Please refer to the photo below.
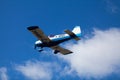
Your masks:
{"label": "small white and blue propeller airplane banking in flight", "polygon": [[63,55],[67,55],[70,53],[73,53],[72,51],[62,48],[59,46],[60,43],[75,39],[76,41],[80,40],[81,36],[81,29],[80,26],[74,27],[72,31],[65,30],[64,32],[66,34],[59,34],[59,35],[50,35],[46,36],[44,32],[38,27],[38,26],[30,26],[27,27],[29,31],[31,31],[38,40],[35,42],[35,49],[37,49],[39,52],[43,51],[44,47],[49,47],[54,50],[54,54],[57,54],[60,52]]}

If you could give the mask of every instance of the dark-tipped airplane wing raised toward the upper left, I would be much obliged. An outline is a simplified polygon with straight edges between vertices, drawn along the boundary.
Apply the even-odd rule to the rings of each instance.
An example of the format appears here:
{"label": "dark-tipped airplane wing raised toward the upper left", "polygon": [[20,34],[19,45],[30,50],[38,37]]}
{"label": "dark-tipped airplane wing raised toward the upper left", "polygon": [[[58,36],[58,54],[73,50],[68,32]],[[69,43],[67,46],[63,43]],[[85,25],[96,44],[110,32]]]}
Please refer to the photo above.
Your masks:
{"label": "dark-tipped airplane wing raised toward the upper left", "polygon": [[43,31],[38,26],[30,26],[27,29],[31,31],[42,42],[50,42],[50,39],[43,33]]}

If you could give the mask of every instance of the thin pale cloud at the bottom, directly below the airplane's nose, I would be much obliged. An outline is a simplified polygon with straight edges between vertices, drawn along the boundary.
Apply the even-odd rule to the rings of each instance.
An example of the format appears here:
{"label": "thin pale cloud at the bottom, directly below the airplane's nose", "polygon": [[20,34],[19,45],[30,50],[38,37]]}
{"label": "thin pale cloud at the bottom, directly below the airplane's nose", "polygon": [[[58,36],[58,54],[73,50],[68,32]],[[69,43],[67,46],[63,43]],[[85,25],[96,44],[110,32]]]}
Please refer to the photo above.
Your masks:
{"label": "thin pale cloud at the bottom, directly below the airplane's nose", "polygon": [[16,70],[31,80],[50,80],[51,65],[47,62],[27,61],[24,65],[17,65]]}

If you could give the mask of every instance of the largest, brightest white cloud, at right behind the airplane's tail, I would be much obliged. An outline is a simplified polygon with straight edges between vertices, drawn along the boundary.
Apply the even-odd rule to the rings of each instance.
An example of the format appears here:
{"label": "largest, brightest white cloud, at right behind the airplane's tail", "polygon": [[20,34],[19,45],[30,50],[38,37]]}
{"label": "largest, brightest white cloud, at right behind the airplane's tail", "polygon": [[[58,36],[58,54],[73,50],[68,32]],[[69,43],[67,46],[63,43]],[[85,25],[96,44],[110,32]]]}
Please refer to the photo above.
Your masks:
{"label": "largest, brightest white cloud, at right behind the airplane's tail", "polygon": [[93,37],[66,46],[74,53],[62,58],[80,77],[100,78],[120,69],[119,29],[94,30]]}

